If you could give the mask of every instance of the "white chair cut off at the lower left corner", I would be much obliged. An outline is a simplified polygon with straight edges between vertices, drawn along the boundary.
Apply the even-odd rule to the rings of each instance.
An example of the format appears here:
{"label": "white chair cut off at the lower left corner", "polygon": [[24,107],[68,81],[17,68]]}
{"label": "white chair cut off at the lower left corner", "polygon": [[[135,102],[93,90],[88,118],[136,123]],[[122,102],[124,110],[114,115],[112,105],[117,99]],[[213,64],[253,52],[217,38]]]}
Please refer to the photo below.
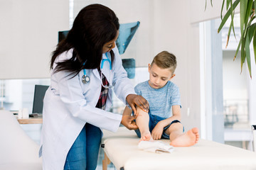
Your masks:
{"label": "white chair cut off at the lower left corner", "polygon": [[0,169],[39,170],[39,146],[31,140],[9,111],[0,111]]}

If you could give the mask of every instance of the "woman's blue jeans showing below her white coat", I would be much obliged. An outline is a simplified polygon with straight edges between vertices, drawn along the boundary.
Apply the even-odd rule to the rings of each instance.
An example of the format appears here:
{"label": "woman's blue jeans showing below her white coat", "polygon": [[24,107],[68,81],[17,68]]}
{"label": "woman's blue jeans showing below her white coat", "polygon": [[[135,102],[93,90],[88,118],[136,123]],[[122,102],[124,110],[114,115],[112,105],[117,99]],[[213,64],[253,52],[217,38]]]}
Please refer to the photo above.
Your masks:
{"label": "woman's blue jeans showing below her white coat", "polygon": [[86,123],[68,152],[64,169],[95,170],[101,138],[100,128]]}

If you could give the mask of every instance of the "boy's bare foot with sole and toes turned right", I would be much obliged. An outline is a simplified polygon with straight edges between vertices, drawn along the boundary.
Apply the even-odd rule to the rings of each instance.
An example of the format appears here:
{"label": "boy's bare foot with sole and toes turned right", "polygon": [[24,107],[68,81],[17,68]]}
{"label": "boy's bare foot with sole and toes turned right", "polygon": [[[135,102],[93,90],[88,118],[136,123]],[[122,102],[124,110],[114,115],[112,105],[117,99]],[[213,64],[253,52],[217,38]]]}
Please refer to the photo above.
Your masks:
{"label": "boy's bare foot with sole and toes turned right", "polygon": [[192,128],[188,132],[176,137],[170,145],[174,147],[190,147],[195,145],[199,140],[198,128]]}

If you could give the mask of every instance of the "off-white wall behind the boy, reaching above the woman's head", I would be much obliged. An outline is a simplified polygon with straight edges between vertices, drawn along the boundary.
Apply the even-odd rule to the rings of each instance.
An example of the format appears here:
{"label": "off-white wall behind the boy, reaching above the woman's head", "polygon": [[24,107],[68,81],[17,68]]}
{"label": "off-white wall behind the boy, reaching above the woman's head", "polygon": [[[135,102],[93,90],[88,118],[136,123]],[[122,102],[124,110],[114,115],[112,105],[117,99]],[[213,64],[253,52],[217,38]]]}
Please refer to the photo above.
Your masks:
{"label": "off-white wall behind the boy, reaching above the woman's head", "polygon": [[74,0],[74,16],[83,6],[95,3],[112,8],[120,23],[141,22],[122,58],[133,57],[137,67],[147,67],[162,50],[176,55],[178,67],[173,80],[181,91],[183,124],[186,130],[201,128],[198,23],[219,17],[222,1],[213,1],[213,7],[208,4],[205,11],[205,0]]}

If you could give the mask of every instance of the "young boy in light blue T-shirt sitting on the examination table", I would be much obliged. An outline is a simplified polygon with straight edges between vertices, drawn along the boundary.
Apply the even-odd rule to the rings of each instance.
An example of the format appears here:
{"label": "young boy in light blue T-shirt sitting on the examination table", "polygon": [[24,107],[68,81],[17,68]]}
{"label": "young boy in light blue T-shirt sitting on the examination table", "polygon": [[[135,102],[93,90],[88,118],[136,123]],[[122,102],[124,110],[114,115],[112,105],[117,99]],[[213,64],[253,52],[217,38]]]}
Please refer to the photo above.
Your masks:
{"label": "young boy in light blue T-shirt sitting on the examination table", "polygon": [[[149,101],[149,113],[137,108],[135,130],[141,140],[170,139],[174,147],[188,147],[199,140],[198,128],[183,133],[181,124],[181,101],[178,86],[170,80],[174,78],[176,57],[169,52],[160,52],[149,64],[149,81],[135,86],[138,95]],[[124,109],[124,115],[131,115],[132,110]]]}

